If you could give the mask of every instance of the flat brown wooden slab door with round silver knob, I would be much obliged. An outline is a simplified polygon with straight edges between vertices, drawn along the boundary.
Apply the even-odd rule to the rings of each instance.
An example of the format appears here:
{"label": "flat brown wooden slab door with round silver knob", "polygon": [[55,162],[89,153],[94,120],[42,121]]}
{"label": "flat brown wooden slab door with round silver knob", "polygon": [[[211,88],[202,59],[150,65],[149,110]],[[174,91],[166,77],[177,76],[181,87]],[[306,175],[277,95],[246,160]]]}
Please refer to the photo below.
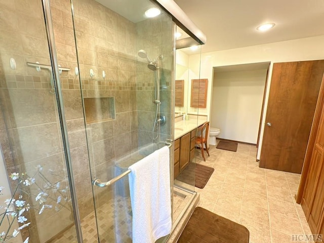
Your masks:
{"label": "flat brown wooden slab door with round silver knob", "polygon": [[323,72],[324,60],[273,65],[260,167],[301,173]]}

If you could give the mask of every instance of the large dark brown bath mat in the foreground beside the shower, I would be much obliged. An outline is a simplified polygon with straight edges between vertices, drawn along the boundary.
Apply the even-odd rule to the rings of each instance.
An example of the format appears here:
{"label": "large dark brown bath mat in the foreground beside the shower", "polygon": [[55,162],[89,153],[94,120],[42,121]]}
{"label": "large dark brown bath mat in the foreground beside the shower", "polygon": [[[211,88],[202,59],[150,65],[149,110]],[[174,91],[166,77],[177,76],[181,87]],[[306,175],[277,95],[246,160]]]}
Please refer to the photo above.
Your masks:
{"label": "large dark brown bath mat in the foreground beside the shower", "polygon": [[197,207],[177,243],[249,243],[249,237],[245,226]]}

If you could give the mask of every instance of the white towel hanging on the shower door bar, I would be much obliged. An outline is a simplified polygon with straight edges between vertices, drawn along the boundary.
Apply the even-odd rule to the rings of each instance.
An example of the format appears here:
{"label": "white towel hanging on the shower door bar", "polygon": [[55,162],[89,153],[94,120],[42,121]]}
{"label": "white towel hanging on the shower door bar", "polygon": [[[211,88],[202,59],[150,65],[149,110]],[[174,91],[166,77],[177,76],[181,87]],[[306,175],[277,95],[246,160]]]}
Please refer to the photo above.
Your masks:
{"label": "white towel hanging on the shower door bar", "polygon": [[169,148],[155,151],[129,169],[133,243],[153,243],[172,228]]}

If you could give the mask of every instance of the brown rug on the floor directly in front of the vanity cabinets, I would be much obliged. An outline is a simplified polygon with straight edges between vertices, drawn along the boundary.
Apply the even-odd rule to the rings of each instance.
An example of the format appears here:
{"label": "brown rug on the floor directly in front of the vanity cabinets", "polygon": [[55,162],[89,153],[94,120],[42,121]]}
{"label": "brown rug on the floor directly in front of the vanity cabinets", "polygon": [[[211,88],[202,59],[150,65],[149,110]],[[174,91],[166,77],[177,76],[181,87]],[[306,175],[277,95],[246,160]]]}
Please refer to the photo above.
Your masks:
{"label": "brown rug on the floor directly in front of the vanity cabinets", "polygon": [[190,163],[177,177],[177,180],[187,184],[192,184],[198,188],[204,188],[209,178],[214,172],[214,168],[206,165]]}

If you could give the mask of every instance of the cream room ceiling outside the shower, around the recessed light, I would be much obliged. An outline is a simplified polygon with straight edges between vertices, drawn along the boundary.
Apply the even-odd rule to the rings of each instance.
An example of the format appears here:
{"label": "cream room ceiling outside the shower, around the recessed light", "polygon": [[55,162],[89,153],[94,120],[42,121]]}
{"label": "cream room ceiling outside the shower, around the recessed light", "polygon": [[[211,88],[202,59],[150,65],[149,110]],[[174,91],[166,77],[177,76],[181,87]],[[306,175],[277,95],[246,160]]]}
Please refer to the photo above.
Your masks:
{"label": "cream room ceiling outside the shower, around the recessed light", "polygon": [[324,34],[324,0],[174,1],[207,36],[203,53]]}

